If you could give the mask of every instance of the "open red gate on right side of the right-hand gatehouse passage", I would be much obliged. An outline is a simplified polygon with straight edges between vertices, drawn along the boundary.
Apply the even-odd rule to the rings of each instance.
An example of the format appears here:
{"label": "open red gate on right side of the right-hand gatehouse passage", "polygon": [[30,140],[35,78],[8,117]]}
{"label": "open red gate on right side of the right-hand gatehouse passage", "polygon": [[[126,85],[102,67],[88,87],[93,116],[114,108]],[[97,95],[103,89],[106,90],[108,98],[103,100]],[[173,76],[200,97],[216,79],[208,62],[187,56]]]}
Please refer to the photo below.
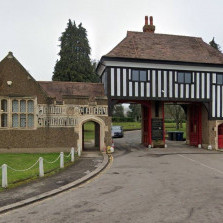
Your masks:
{"label": "open red gate on right side of the right-hand gatehouse passage", "polygon": [[192,104],[190,107],[190,145],[201,144],[201,105]]}

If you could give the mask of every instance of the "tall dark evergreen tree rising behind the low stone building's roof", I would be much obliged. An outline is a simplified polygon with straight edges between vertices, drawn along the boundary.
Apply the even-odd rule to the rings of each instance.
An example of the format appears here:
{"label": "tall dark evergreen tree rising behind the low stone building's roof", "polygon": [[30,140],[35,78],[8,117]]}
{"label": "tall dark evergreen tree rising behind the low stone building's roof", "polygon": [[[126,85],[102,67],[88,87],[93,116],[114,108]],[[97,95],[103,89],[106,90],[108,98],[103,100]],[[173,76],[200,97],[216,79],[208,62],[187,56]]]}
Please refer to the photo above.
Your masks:
{"label": "tall dark evergreen tree rising behind the low stone building's roof", "polygon": [[80,23],[76,26],[70,19],[59,38],[60,59],[56,61],[53,81],[99,82],[95,67],[90,60],[91,48],[87,31]]}

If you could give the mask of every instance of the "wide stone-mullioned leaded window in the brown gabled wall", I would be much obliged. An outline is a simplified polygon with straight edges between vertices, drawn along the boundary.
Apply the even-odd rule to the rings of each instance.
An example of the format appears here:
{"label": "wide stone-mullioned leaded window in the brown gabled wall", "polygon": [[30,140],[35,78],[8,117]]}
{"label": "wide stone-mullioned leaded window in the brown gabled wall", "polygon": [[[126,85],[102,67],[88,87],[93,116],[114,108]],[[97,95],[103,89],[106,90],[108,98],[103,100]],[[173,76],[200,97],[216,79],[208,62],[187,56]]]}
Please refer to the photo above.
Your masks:
{"label": "wide stone-mullioned leaded window in the brown gabled wall", "polygon": [[0,108],[0,127],[34,127],[34,100],[0,99]]}

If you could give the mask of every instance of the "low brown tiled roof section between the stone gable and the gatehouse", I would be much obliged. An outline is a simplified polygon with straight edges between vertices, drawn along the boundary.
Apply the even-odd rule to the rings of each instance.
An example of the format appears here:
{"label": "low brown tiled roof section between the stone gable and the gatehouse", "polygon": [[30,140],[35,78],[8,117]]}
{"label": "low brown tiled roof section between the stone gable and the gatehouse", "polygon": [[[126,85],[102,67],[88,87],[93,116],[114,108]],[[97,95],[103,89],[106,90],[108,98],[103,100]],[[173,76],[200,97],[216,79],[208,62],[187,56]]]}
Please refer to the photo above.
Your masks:
{"label": "low brown tiled roof section between the stone gable and the gatehouse", "polygon": [[104,85],[100,83],[64,82],[64,81],[38,81],[40,86],[57,101],[62,101],[62,96],[105,96]]}

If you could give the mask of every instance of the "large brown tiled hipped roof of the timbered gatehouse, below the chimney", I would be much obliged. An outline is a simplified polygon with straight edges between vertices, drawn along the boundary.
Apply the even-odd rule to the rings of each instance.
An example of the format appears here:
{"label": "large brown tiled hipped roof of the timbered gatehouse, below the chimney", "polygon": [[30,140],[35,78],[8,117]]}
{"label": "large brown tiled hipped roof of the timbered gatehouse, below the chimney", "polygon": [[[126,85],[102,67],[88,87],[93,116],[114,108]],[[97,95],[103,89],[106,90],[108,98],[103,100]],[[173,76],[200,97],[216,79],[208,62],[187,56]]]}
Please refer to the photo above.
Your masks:
{"label": "large brown tiled hipped roof of the timbered gatehouse, below the chimney", "polygon": [[223,54],[201,38],[148,32],[128,31],[104,57],[223,64]]}

